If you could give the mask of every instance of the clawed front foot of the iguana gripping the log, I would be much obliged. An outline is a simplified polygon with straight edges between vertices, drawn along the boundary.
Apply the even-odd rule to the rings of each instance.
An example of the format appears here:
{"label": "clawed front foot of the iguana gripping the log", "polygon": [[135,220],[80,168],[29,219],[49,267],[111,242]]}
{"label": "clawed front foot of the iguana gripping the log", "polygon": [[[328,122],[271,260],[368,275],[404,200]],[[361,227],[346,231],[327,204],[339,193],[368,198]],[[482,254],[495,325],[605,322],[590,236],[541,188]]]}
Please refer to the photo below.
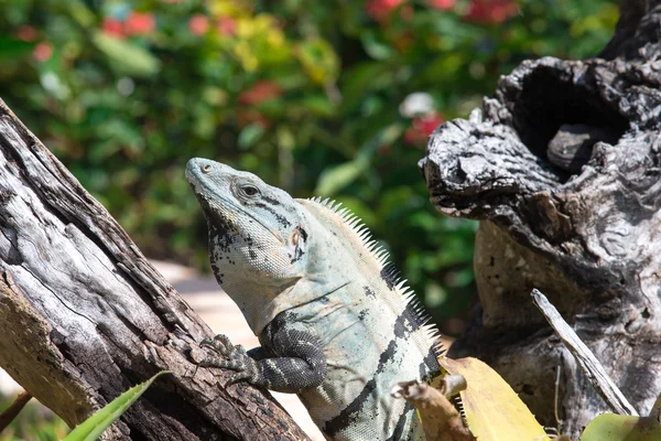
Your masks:
{"label": "clawed front foot of the iguana gripping the log", "polygon": [[254,381],[258,372],[257,362],[246,353],[243,346],[234,345],[227,335],[219,334],[213,338],[207,337],[199,345],[210,347],[223,356],[223,358],[207,357],[199,363],[199,366],[235,370],[236,374],[230,379],[232,384],[241,380]]}

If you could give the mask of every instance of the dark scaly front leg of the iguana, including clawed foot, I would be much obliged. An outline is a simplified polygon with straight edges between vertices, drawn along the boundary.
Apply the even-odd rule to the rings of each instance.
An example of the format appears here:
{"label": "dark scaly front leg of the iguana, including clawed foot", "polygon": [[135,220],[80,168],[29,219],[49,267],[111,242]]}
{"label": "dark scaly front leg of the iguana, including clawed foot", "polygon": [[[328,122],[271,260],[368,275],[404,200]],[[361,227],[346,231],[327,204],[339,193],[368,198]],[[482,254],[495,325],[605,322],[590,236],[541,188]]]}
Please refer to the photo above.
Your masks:
{"label": "dark scaly front leg of the iguana, including clawed foot", "polygon": [[223,358],[209,357],[201,365],[235,370],[232,383],[246,380],[279,392],[300,392],[324,380],[326,358],[322,345],[305,325],[284,323],[275,318],[260,341],[266,347],[246,352],[225,335],[205,340],[202,344],[214,348]]}

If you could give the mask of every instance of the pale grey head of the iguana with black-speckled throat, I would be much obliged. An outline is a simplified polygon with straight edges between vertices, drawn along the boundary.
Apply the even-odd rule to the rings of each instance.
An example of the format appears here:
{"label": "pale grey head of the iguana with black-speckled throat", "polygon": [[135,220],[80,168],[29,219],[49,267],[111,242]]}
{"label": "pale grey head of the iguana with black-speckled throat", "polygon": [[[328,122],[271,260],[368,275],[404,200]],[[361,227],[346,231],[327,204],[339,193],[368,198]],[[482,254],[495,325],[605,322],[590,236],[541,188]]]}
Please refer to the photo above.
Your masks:
{"label": "pale grey head of the iguana with black-speckled throat", "polygon": [[[256,287],[260,294],[277,295],[303,276],[305,217],[286,192],[201,158],[188,161],[186,178],[208,223],[212,268],[230,295],[232,289]],[[235,299],[239,306],[241,300]]]}

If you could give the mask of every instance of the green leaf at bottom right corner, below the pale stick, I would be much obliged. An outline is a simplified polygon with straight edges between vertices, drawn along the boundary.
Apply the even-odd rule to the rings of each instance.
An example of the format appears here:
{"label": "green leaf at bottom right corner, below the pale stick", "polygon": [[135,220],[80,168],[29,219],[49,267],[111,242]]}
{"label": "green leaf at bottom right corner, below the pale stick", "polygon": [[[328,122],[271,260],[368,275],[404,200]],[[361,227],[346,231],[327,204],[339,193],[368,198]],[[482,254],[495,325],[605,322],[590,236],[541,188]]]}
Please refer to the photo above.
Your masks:
{"label": "green leaf at bottom right corner, below the pale stick", "polygon": [[604,413],[587,424],[581,441],[659,441],[661,426],[653,418]]}

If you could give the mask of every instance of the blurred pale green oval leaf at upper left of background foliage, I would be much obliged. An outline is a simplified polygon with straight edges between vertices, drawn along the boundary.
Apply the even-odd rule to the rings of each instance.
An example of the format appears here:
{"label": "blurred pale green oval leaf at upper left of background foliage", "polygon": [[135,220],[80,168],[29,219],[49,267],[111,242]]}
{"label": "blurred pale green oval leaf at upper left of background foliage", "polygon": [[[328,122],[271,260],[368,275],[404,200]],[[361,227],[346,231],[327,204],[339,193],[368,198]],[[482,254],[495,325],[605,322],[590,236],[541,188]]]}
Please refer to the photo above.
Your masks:
{"label": "blurred pale green oval leaf at upper left of background foliage", "polygon": [[153,76],[161,62],[144,47],[127,40],[119,40],[102,32],[95,32],[91,41],[101,51],[110,67],[120,75]]}

